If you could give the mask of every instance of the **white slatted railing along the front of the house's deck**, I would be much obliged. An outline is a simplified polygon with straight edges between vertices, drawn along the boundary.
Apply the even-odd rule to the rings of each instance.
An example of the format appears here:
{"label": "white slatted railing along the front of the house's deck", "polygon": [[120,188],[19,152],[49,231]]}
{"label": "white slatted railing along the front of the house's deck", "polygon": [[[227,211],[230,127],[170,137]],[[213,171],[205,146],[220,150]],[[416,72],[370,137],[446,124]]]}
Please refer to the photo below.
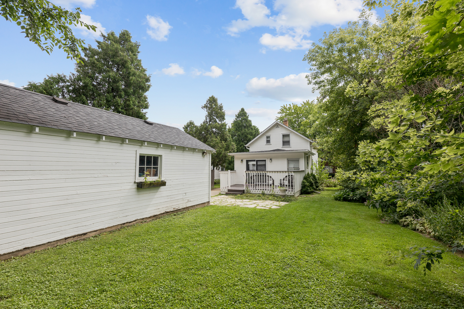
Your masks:
{"label": "white slatted railing along the front of the house's deck", "polygon": [[285,187],[288,195],[301,190],[304,170],[296,171],[251,171],[245,170],[245,192],[278,194],[278,187]]}

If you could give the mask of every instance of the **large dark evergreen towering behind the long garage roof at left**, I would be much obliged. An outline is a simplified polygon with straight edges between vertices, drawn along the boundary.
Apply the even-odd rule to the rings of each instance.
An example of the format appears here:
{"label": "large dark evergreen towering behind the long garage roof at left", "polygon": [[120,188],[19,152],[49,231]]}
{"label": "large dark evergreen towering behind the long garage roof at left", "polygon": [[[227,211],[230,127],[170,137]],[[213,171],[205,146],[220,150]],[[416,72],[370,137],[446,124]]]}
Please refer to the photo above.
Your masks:
{"label": "large dark evergreen towering behind the long garage roof at left", "polygon": [[102,34],[97,48],[84,47],[84,57],[76,63],[70,76],[47,76],[43,82],[29,82],[25,89],[45,95],[102,108],[115,113],[147,119],[145,93],[150,89],[150,76],[143,68],[140,43],[133,42],[127,30]]}

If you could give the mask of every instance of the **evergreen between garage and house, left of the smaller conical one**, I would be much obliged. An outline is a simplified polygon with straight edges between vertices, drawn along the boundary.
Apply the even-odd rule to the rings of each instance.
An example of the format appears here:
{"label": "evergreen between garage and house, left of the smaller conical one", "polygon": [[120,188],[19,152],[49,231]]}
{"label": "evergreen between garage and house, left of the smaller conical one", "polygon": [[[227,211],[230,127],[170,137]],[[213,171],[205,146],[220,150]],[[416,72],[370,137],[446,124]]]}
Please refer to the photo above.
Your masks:
{"label": "evergreen between garage and house, left of the smaller conical one", "polygon": [[200,126],[195,125],[193,120],[190,120],[183,129],[186,133],[216,150],[211,158],[211,164],[214,168],[226,166],[230,158],[228,153],[235,151],[235,144],[227,132],[224,107],[212,95],[201,108],[206,111],[206,116]]}

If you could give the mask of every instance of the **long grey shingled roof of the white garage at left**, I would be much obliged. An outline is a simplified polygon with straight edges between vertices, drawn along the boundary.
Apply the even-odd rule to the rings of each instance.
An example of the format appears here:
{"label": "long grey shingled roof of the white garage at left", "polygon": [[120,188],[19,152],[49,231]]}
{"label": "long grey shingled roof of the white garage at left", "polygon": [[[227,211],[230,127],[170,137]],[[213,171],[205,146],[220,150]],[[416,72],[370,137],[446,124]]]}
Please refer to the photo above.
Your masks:
{"label": "long grey shingled roof of the white garage at left", "polygon": [[3,121],[215,151],[173,126],[65,102],[68,104],[58,103],[48,95],[0,84]]}

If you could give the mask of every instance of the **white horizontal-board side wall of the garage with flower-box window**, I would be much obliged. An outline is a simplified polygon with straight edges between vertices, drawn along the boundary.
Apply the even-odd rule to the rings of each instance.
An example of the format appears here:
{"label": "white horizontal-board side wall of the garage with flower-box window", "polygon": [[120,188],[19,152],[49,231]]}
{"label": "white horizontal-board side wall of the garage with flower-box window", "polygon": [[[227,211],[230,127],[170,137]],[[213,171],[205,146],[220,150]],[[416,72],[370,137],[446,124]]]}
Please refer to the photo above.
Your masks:
{"label": "white horizontal-board side wall of the garage with flower-box window", "polygon": [[[0,254],[210,200],[201,149],[0,121]],[[162,156],[166,187],[137,189],[136,151]]]}

